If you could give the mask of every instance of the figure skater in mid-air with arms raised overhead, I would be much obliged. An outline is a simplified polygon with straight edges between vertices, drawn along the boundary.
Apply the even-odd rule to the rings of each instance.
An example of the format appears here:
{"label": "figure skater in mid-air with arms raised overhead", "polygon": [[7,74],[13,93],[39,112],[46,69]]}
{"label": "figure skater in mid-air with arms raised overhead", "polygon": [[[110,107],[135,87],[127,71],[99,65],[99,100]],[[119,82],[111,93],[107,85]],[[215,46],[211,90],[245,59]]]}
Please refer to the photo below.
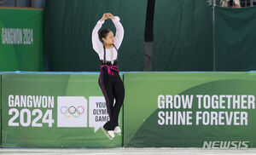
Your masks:
{"label": "figure skater in mid-air with arms raised overhead", "polygon": [[[116,35],[109,29],[103,29],[98,33],[105,20],[111,19],[116,28]],[[102,127],[104,133],[110,140],[114,138],[114,133],[121,135],[119,127],[119,112],[125,98],[125,87],[119,77],[119,67],[117,66],[119,47],[124,37],[124,28],[118,16],[106,13],[99,20],[92,31],[92,46],[102,63],[99,85],[106,100],[108,116],[110,120]],[[99,37],[102,39],[100,41]],[[113,103],[115,100],[115,103]]]}

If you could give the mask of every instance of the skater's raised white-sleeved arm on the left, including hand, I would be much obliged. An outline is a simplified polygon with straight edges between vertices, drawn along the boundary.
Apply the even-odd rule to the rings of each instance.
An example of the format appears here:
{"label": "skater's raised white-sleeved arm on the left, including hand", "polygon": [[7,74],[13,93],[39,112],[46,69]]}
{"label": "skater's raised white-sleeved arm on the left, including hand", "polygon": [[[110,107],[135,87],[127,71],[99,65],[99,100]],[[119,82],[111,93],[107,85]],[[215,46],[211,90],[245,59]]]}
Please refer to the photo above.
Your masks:
{"label": "skater's raised white-sleeved arm on the left, including hand", "polygon": [[102,19],[98,20],[96,26],[94,27],[92,33],[91,33],[91,43],[92,48],[96,51],[96,53],[101,53],[103,50],[102,42],[99,39],[98,32],[100,28],[102,27],[102,24],[104,24],[105,20],[108,19],[108,14],[103,14]]}

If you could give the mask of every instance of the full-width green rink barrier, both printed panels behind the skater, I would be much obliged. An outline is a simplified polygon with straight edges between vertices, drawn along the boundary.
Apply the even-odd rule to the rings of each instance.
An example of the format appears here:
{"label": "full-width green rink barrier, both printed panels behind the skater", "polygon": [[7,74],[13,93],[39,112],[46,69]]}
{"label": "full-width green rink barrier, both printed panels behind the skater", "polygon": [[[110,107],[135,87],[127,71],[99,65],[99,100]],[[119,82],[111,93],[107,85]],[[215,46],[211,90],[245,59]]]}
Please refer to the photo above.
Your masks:
{"label": "full-width green rink barrier, both printed panels behind the skater", "polygon": [[[124,133],[113,141],[100,129],[99,117],[106,113],[99,107],[104,100],[98,77],[99,72],[3,72],[1,106],[8,110],[1,109],[2,147],[255,147],[255,72],[121,72]],[[234,96],[242,103],[228,108]]]}

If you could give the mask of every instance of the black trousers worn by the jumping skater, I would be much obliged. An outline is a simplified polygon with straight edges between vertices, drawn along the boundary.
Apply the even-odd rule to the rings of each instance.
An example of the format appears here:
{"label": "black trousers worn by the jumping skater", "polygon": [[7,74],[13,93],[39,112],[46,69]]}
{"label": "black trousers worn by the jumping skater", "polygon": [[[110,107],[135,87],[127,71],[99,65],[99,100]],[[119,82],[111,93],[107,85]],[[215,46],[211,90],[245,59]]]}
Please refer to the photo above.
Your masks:
{"label": "black trousers worn by the jumping skater", "polygon": [[[110,121],[104,124],[104,129],[113,130],[114,127],[119,126],[119,112],[124,103],[125,87],[119,72],[113,71],[113,75],[108,74],[107,67],[101,69],[99,78],[99,85],[106,100],[108,115]],[[115,103],[113,104],[113,100]]]}

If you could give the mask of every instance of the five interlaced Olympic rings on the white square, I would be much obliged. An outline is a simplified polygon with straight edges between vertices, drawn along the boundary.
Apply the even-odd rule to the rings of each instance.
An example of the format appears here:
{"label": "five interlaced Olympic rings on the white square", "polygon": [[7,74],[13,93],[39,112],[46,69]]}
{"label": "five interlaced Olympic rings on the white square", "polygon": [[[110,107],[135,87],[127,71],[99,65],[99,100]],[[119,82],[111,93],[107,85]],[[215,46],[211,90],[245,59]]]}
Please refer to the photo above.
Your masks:
{"label": "five interlaced Olympic rings on the white square", "polygon": [[79,118],[79,116],[84,113],[84,106],[61,106],[61,113],[66,118],[71,118],[72,116],[74,118]]}

